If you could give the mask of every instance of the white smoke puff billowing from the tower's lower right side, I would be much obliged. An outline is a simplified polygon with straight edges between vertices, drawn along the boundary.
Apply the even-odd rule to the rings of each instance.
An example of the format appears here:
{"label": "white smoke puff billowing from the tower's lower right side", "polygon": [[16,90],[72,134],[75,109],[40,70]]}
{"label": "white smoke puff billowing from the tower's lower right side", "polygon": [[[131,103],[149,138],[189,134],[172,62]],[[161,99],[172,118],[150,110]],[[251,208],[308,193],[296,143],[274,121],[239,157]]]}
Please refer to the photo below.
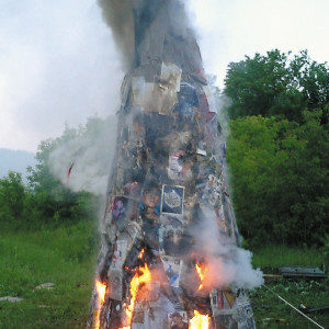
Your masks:
{"label": "white smoke puff billowing from the tower's lower right side", "polygon": [[206,259],[209,286],[234,285],[251,290],[263,284],[262,272],[252,269],[252,253],[220,236],[212,208],[203,207],[202,220],[193,236],[198,250]]}

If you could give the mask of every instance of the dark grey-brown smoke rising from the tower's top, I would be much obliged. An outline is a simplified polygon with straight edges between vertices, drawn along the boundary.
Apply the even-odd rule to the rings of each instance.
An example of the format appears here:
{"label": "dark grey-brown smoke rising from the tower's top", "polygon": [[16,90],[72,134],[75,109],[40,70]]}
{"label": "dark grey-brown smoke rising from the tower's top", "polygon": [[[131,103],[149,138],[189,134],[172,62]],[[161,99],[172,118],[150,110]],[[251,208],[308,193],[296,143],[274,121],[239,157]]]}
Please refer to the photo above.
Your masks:
{"label": "dark grey-brown smoke rising from the tower's top", "polygon": [[[152,29],[161,30],[160,34],[169,32],[173,37],[195,38],[183,1],[99,0],[99,5],[106,24],[112,30],[126,69],[139,64],[135,57],[136,45],[140,45],[145,34],[151,33]],[[134,9],[141,18],[138,20],[139,26],[134,26]],[[136,35],[135,30],[138,31]]]}

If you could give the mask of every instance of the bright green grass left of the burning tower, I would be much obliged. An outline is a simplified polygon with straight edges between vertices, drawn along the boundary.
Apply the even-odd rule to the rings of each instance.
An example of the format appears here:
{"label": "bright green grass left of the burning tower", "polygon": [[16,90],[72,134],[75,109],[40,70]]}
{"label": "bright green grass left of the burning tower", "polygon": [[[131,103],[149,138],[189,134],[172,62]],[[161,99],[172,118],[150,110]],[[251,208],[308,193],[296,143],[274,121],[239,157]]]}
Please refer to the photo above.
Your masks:
{"label": "bright green grass left of the burning tower", "polygon": [[[0,328],[84,328],[95,264],[93,228],[0,234]],[[52,282],[52,291],[33,291]]]}

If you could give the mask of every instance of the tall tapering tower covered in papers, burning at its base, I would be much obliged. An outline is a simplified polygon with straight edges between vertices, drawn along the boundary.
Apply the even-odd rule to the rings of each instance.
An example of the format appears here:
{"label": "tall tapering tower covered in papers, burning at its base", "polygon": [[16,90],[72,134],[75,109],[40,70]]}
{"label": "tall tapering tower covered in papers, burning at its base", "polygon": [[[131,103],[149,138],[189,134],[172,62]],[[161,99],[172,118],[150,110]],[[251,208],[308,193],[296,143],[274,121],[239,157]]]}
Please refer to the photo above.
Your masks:
{"label": "tall tapering tower covered in papers, burning at its base", "polygon": [[220,280],[227,273],[216,266],[235,258],[240,236],[216,102],[184,7],[102,5],[114,11],[111,22],[122,7],[134,56],[122,86],[88,327],[253,328],[243,288]]}

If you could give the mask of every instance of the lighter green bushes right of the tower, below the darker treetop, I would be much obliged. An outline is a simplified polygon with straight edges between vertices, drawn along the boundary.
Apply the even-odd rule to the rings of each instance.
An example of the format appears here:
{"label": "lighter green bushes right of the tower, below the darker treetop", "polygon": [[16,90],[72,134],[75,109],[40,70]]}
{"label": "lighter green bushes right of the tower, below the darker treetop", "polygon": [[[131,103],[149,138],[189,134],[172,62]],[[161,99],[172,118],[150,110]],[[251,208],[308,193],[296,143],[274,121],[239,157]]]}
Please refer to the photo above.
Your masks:
{"label": "lighter green bushes right of the tower, below the darker treetop", "polygon": [[300,123],[231,121],[228,161],[239,227],[250,243],[320,245],[328,232],[328,131],[322,111]]}

